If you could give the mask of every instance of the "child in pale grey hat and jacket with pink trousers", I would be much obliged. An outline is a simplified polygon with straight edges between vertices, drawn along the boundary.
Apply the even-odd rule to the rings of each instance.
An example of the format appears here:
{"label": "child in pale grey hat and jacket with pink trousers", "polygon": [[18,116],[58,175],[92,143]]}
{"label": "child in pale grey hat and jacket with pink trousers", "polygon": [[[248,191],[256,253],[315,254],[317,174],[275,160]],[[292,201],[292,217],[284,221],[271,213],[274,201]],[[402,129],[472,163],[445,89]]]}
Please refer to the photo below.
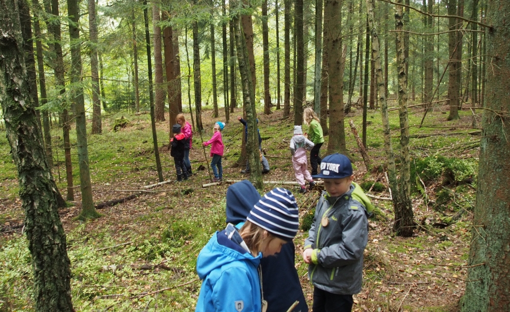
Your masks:
{"label": "child in pale grey hat and jacket with pink trousers", "polygon": [[306,181],[309,182],[310,189],[315,185],[310,172],[308,171],[307,150],[313,149],[314,144],[311,140],[304,137],[301,126],[294,126],[294,136],[290,140],[290,152],[292,153],[292,166],[296,175],[297,183],[301,186],[300,193],[307,192],[304,186]]}

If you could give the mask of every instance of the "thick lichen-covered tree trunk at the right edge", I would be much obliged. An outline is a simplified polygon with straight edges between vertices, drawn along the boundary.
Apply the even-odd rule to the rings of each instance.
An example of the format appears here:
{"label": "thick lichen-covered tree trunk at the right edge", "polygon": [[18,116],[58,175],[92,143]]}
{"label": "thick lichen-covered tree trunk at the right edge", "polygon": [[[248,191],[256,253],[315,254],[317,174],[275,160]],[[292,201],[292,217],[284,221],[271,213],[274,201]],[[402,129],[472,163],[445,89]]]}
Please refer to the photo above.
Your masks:
{"label": "thick lichen-covered tree trunk at the right edge", "polygon": [[[482,114],[482,137],[476,187],[468,280],[461,311],[496,312],[510,303],[510,2],[489,0],[487,50],[498,55],[487,76],[487,110]],[[505,125],[506,124],[506,125]]]}

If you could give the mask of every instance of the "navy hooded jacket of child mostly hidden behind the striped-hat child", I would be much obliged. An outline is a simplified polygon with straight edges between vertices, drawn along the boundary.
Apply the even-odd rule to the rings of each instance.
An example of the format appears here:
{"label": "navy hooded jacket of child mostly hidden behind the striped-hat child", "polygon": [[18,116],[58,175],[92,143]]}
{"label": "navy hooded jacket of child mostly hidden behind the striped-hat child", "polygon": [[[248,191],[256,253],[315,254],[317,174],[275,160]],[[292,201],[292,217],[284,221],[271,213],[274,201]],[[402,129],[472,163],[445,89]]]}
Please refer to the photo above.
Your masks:
{"label": "navy hooded jacket of child mostly hidden behind the striped-hat child", "polygon": [[[226,222],[240,226],[246,221],[253,205],[260,200],[260,194],[248,180],[237,182],[226,191]],[[308,312],[299,276],[294,267],[294,243],[288,242],[282,250],[271,257],[262,258],[262,289],[267,300],[267,312],[283,312],[296,301],[299,304],[293,312]]]}

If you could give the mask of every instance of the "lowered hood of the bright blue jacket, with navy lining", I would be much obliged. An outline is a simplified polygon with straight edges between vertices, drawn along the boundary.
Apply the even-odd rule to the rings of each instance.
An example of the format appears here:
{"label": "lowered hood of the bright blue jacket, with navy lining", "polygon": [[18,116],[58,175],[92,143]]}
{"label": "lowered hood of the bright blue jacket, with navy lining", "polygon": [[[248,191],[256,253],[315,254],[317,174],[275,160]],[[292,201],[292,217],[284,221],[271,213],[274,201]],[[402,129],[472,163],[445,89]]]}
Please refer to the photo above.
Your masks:
{"label": "lowered hood of the bright blue jacket, with navy lining", "polygon": [[246,262],[247,265],[251,264],[257,268],[261,259],[262,253],[253,257],[251,253],[228,239],[225,231],[216,232],[198,254],[196,271],[198,277],[204,279],[211,271],[236,261]]}

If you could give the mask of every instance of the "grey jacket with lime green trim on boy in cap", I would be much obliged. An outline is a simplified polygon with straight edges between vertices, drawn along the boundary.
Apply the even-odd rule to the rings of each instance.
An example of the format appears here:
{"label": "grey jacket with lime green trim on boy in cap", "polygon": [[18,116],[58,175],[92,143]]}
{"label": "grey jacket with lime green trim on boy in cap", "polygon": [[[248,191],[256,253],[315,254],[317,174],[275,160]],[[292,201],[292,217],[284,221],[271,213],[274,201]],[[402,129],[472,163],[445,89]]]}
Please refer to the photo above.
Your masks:
{"label": "grey jacket with lime green trim on boy in cap", "polygon": [[[355,183],[339,197],[322,193],[304,242],[304,249],[314,249],[308,276],[315,287],[340,295],[361,292],[368,241],[366,206],[371,206],[370,201]],[[323,217],[329,219],[327,226],[321,224]]]}

